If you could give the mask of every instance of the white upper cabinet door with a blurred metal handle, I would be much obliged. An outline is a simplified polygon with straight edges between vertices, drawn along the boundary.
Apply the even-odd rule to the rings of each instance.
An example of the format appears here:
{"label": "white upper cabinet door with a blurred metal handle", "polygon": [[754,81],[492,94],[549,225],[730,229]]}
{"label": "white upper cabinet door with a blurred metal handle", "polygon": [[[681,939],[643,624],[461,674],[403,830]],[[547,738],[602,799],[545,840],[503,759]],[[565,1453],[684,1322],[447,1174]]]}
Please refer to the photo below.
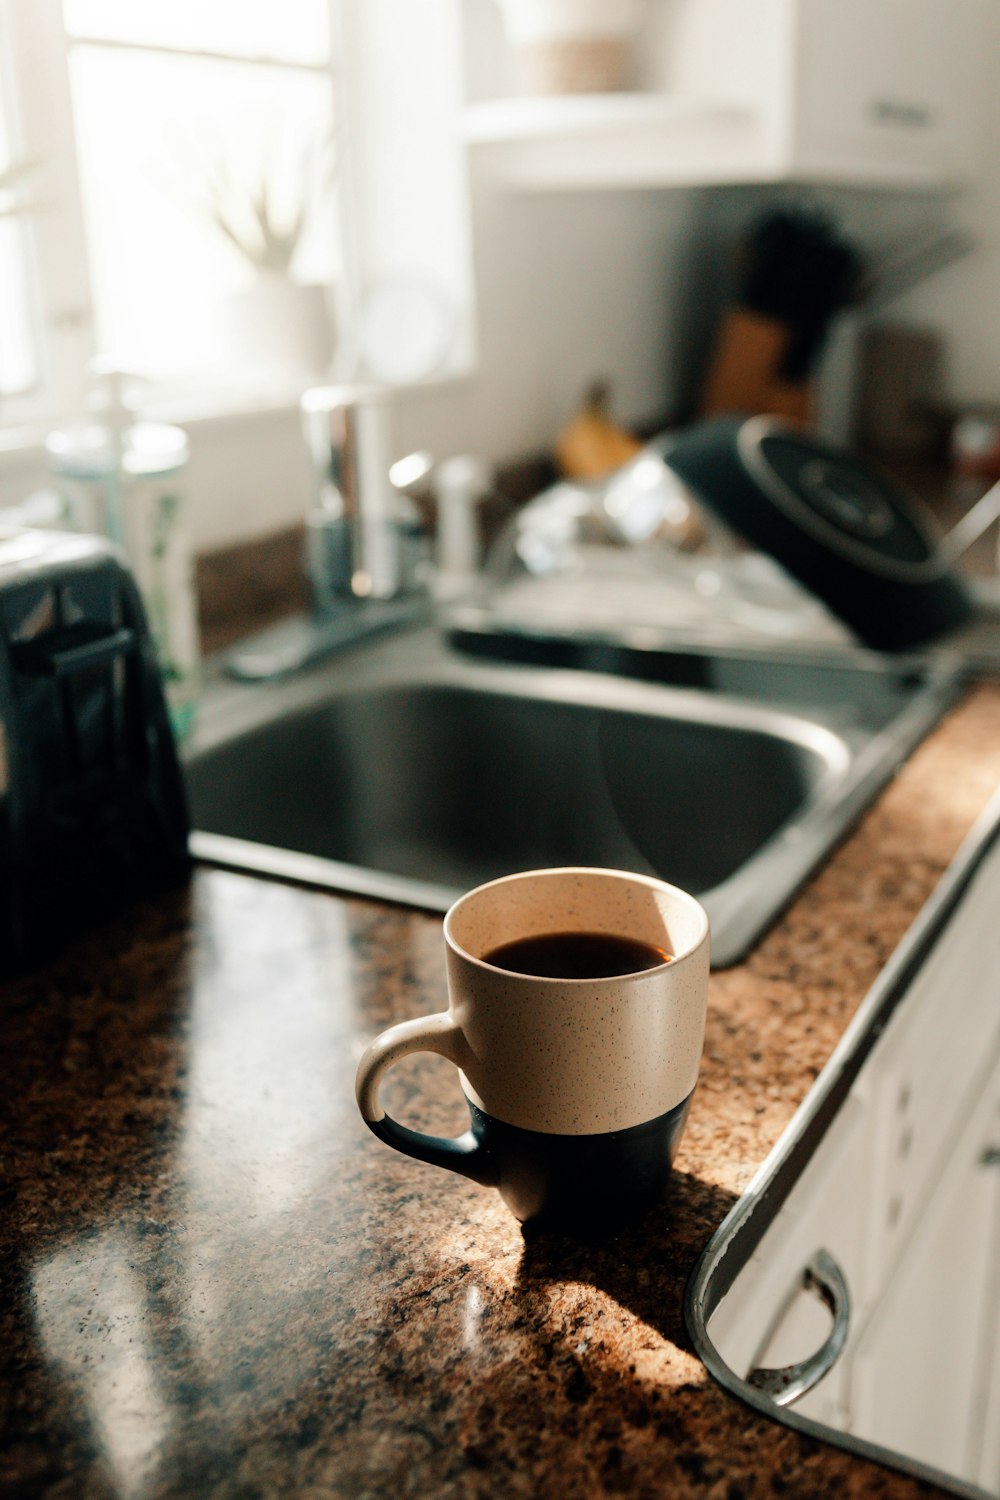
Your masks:
{"label": "white upper cabinet door with a blurred metal handle", "polygon": [[916,177],[967,165],[978,15],[978,0],[801,0],[799,165]]}

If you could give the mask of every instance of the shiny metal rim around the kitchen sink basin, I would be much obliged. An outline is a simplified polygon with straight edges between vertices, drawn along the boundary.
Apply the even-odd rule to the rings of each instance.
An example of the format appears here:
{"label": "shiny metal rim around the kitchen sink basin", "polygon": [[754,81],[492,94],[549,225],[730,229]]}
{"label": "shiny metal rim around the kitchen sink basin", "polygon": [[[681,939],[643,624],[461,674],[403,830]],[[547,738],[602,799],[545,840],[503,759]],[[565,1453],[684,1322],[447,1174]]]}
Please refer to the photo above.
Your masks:
{"label": "shiny metal rim around the kitchen sink basin", "polygon": [[[576,668],[526,668],[468,658],[448,648],[436,630],[411,632],[409,648],[408,652],[403,644],[400,654],[397,639],[376,642],[334,668],[327,664],[277,684],[231,684],[228,692],[214,694],[214,704],[210,694],[187,759],[193,762],[234,736],[321,705],[333,694],[367,694],[378,687],[403,684],[459,686],[526,700],[583,702],[615,712],[754,729],[805,746],[820,756],[825,771],[799,813],[765,840],[732,876],[699,897],[712,921],[715,968],[727,968],[747,956],[898,764],[940,718],[958,686],[954,666],[928,669],[927,681],[915,688],[907,710],[864,746],[850,747],[814,717],[744,698]],[[417,880],[204,830],[192,832],[190,849],[195,858],[210,864],[433,912],[447,910],[462,894],[433,879]]]}

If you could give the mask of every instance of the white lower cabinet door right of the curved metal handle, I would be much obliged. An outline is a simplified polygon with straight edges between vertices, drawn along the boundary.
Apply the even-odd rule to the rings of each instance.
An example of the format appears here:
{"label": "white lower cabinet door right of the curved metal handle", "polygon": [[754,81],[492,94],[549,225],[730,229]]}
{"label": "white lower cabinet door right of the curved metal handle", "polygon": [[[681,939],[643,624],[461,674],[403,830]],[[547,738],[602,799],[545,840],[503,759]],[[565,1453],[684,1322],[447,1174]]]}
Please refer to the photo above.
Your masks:
{"label": "white lower cabinet door right of the curved metal handle", "polygon": [[850,1431],[978,1479],[997,1344],[996,1149],[1000,1068],[982,1092],[939,1191],[850,1364]]}

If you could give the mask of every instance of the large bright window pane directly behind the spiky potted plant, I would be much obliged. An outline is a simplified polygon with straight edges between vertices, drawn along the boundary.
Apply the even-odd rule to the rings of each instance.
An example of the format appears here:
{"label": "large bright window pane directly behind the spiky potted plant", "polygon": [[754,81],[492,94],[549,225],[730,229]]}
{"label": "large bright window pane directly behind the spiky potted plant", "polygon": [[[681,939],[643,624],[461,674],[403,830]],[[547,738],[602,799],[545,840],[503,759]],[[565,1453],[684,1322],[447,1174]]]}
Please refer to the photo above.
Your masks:
{"label": "large bright window pane directly behind the spiky potted plant", "polygon": [[325,74],[78,45],[70,80],[102,354],[157,375],[225,363],[226,298],[255,272],[205,212],[213,183],[247,240],[262,180],[279,228],[304,201],[294,276],[333,279]]}

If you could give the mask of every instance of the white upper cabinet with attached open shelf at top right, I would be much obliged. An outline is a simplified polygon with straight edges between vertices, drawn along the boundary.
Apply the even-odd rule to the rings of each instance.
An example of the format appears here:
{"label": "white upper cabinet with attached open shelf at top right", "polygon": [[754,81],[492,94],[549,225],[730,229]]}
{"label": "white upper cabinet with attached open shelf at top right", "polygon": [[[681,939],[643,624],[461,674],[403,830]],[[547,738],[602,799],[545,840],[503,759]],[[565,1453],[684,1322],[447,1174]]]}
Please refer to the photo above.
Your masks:
{"label": "white upper cabinet with attached open shelf at top right", "polygon": [[463,135],[510,186],[936,189],[975,166],[997,0],[649,0],[633,90],[534,98],[495,10],[466,0]]}

